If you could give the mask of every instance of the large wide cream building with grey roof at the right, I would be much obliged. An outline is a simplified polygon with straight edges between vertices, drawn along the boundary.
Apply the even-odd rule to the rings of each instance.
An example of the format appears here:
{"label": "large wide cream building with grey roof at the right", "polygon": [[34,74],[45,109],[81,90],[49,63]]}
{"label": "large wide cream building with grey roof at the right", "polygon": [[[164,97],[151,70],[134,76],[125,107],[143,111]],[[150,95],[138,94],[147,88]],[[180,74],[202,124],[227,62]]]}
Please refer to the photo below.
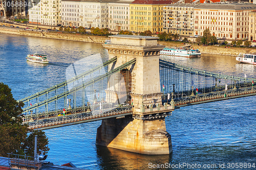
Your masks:
{"label": "large wide cream building with grey roof at the right", "polygon": [[219,38],[247,39],[249,12],[255,9],[255,4],[200,4],[194,8],[194,35],[209,29]]}

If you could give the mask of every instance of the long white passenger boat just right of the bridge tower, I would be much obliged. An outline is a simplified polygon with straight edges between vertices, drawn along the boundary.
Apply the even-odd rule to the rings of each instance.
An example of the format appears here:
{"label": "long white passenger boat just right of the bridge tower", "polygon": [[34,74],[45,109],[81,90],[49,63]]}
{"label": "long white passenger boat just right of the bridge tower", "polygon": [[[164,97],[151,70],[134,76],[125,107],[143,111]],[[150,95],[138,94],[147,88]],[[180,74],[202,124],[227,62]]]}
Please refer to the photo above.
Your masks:
{"label": "long white passenger boat just right of the bridge tower", "polygon": [[197,49],[189,49],[189,48],[170,48],[165,47],[160,51],[160,55],[168,55],[168,56],[180,56],[180,57],[201,57],[200,51]]}

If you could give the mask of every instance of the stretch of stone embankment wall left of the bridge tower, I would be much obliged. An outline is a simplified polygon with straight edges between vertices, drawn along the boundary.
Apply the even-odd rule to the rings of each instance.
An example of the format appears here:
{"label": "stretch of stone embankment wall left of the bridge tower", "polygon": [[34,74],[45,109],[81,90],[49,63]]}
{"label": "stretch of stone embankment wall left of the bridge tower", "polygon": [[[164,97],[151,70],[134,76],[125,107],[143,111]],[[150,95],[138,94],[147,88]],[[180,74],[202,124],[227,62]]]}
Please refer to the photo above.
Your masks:
{"label": "stretch of stone embankment wall left of the bridge tower", "polygon": [[71,41],[81,41],[81,42],[93,42],[93,43],[104,43],[105,40],[108,39],[108,37],[105,37],[105,36],[81,35],[81,34],[62,33],[62,32],[28,31],[24,29],[12,29],[12,28],[5,28],[5,27],[0,28],[0,33],[71,40]]}

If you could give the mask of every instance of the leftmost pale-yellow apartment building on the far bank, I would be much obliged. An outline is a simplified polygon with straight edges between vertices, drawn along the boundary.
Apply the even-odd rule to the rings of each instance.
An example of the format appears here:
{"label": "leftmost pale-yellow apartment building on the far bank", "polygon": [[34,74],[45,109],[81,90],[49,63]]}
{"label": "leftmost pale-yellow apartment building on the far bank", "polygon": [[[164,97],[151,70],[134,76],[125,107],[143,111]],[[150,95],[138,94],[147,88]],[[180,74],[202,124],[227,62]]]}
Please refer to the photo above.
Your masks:
{"label": "leftmost pale-yellow apartment building on the far bank", "polygon": [[61,24],[60,0],[29,0],[33,7],[29,8],[29,22],[40,23],[42,25],[57,26]]}

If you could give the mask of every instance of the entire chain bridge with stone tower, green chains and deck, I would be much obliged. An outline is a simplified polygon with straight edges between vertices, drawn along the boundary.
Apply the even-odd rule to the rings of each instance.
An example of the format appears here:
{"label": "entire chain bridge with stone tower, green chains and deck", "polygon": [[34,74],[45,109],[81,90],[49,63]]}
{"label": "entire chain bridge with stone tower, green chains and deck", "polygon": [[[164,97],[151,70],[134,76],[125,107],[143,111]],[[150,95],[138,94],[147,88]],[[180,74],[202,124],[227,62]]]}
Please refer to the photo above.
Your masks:
{"label": "entire chain bridge with stone tower, green chains and deck", "polygon": [[[96,143],[142,154],[172,152],[165,117],[180,107],[256,95],[256,79],[159,59],[157,37],[111,36],[109,60],[19,100],[23,123],[50,129],[102,120]],[[74,65],[73,65],[74,66]]]}

